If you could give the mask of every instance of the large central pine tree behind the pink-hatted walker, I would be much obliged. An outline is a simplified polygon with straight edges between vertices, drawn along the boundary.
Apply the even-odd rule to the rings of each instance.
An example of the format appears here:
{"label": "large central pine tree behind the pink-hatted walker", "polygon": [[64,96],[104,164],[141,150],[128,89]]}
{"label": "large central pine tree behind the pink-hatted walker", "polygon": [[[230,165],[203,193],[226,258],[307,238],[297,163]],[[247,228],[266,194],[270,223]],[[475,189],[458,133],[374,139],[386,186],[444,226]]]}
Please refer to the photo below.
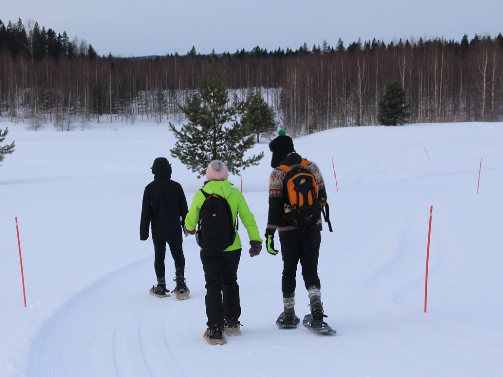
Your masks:
{"label": "large central pine tree behind the pink-hatted walker", "polygon": [[215,67],[214,59],[199,82],[197,93],[186,99],[185,106],[179,105],[187,123],[177,130],[170,122],[170,130],[177,138],[171,155],[198,173],[198,178],[206,173],[212,160],[225,162],[232,174],[257,165],[264,152],[244,158],[254,145],[254,135],[237,120],[236,107],[229,105],[225,75]]}

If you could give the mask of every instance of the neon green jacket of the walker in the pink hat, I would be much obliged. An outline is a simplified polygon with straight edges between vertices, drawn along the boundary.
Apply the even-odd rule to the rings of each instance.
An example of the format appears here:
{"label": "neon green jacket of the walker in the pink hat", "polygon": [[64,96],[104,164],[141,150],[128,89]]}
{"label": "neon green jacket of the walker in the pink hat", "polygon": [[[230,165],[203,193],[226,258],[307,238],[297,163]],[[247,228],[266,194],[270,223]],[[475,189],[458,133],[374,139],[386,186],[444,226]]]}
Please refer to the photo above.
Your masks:
{"label": "neon green jacket of the walker in the pink hat", "polygon": [[[231,182],[228,180],[211,180],[206,182],[203,190],[208,194],[218,194],[221,197],[224,197],[227,200],[227,203],[229,203],[232,211],[232,220],[234,224],[236,222],[237,214],[239,214],[244,227],[248,231],[250,241],[262,242],[253,213],[251,213],[243,194],[238,189],[232,187]],[[203,205],[205,199],[204,194],[201,193],[200,190],[198,190],[194,195],[189,212],[185,217],[185,228],[187,230],[192,231],[196,229],[197,222],[199,220],[199,211],[201,210],[201,206]],[[241,247],[241,239],[239,238],[239,233],[236,231],[236,240],[224,251],[237,250]]]}

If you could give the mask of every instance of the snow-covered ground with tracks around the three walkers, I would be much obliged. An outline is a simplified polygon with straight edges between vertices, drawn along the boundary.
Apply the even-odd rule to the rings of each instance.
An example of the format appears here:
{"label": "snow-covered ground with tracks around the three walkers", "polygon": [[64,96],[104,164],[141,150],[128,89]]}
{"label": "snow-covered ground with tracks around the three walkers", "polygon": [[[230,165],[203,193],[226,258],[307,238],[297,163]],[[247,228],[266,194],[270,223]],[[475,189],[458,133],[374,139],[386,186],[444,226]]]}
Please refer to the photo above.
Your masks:
{"label": "snow-covered ground with tracks around the three walkers", "polygon": [[[246,249],[242,336],[224,346],[202,339],[204,277],[193,237],[184,239],[191,299],[148,294],[153,245],[139,240],[139,221],[150,166],[169,158],[189,202],[203,183],[170,156],[167,125],[34,132],[0,121],[5,127],[16,148],[0,167],[4,377],[503,375],[503,123],[353,127],[295,139],[327,185],[334,232],[322,232],[319,274],[337,335],[277,329],[281,256],[250,258]],[[266,156],[242,171],[242,188],[263,233],[265,140],[260,151]],[[230,180],[240,187],[241,176]],[[166,265],[170,279],[171,256]],[[296,301],[299,316],[307,314],[300,272]]]}

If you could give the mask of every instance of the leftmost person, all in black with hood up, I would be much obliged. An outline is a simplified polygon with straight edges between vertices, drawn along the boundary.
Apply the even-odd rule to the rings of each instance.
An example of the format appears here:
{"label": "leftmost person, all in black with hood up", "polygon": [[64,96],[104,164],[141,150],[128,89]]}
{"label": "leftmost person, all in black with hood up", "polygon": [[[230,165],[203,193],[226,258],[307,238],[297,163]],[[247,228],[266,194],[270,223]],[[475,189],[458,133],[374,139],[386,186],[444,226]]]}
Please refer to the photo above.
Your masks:
{"label": "leftmost person, all in black with hood up", "polygon": [[140,240],[148,239],[148,228],[152,224],[152,240],[154,243],[154,268],[157,285],[153,286],[153,293],[165,295],[166,243],[170,247],[175,262],[175,291],[186,293],[185,285],[185,257],[182,249],[182,232],[187,215],[187,200],[182,186],[171,179],[171,164],[165,157],[158,157],[151,167],[155,178],[143,192],[141,208]]}

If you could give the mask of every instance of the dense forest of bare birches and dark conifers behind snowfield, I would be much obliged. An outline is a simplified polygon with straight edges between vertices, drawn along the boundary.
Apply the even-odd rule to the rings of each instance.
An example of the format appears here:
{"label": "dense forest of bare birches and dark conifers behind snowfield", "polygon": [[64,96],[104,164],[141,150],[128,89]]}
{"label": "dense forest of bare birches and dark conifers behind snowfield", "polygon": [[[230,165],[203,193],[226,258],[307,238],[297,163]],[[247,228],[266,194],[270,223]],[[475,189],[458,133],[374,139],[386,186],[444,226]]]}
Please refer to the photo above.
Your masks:
{"label": "dense forest of bare birches and dark conifers behind snowfield", "polygon": [[[460,41],[358,40],[347,47],[339,39],[333,47],[324,41],[295,51],[257,46],[218,55],[193,47],[185,55],[123,58],[98,56],[86,43],[76,48],[66,33],[56,36],[55,48],[54,32],[35,24],[27,31],[21,21],[7,27],[0,21],[0,115],[27,119],[35,129],[47,122],[85,128],[103,115],[108,122],[181,120],[211,59],[225,74],[231,101],[260,91],[293,136],[379,124],[379,101],[392,82],[405,90],[409,122],[503,119],[501,33]],[[41,52],[30,43],[36,30],[47,36],[37,39]],[[23,41],[17,49],[13,33]]]}

